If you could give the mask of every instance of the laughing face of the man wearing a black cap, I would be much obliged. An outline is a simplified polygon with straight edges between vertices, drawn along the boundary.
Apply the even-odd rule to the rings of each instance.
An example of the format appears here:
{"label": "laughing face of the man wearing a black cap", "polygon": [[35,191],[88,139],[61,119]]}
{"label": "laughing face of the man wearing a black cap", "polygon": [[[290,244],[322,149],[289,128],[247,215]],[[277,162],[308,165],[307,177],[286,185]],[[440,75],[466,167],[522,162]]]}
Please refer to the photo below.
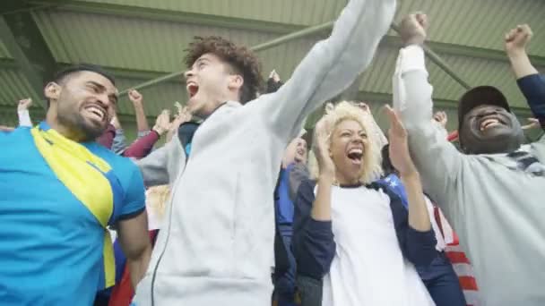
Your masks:
{"label": "laughing face of the man wearing a black cap", "polygon": [[505,108],[477,106],[463,117],[460,143],[466,154],[508,153],[520,148],[523,130]]}

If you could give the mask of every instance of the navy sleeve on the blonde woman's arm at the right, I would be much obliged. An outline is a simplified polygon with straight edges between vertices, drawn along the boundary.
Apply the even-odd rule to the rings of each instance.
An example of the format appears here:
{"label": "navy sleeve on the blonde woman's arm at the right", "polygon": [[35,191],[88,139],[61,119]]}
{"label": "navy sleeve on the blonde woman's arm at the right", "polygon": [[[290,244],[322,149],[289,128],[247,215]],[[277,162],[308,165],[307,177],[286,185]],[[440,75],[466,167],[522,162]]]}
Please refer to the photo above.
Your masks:
{"label": "navy sleeve on the blonde woman's arm at the right", "polygon": [[395,234],[402,249],[403,257],[415,266],[429,266],[437,257],[437,239],[433,229],[419,232],[409,225],[409,212],[402,205],[401,198],[389,189],[383,189],[390,197],[390,208],[394,217]]}

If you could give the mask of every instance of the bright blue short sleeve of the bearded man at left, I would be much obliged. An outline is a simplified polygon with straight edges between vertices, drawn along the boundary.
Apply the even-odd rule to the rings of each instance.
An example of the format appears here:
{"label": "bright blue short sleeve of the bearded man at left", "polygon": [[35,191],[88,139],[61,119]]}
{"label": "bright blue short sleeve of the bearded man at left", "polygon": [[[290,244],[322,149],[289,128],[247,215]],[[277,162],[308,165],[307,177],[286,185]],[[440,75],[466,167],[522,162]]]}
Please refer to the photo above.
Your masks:
{"label": "bright blue short sleeve of the bearded man at left", "polygon": [[128,160],[127,162],[131,163],[131,174],[128,184],[125,186],[125,198],[123,199],[119,219],[127,219],[139,215],[145,208],[146,202],[142,174],[136,165]]}

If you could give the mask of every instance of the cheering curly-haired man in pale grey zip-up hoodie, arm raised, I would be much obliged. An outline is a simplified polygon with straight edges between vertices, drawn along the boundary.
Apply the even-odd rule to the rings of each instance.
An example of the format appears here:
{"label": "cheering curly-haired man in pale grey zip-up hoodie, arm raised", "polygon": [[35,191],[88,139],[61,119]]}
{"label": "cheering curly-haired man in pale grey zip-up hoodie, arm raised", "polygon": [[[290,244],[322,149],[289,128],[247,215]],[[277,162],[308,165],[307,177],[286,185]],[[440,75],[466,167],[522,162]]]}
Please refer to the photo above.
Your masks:
{"label": "cheering curly-haired man in pale grey zip-up hoodie, arm raised", "polygon": [[204,121],[190,157],[174,138],[139,162],[145,183],[168,183],[172,196],[138,306],[270,304],[282,153],[304,118],[368,66],[394,11],[395,0],[351,0],[331,37],[259,98],[261,70],[247,48],[219,37],[189,45],[187,106]]}

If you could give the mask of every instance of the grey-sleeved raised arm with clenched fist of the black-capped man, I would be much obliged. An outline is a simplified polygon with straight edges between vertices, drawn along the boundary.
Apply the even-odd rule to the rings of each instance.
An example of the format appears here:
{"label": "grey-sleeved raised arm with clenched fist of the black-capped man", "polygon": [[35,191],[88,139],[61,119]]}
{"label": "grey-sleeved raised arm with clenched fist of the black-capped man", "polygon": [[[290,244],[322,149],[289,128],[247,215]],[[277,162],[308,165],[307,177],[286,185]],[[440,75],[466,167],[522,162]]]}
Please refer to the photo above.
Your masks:
{"label": "grey-sleeved raised arm with clenched fist of the black-capped man", "polygon": [[394,72],[394,107],[409,132],[411,156],[420,173],[424,191],[439,203],[449,203],[455,192],[463,156],[433,125],[431,99],[422,44],[427,17],[411,14],[402,21],[402,40]]}

